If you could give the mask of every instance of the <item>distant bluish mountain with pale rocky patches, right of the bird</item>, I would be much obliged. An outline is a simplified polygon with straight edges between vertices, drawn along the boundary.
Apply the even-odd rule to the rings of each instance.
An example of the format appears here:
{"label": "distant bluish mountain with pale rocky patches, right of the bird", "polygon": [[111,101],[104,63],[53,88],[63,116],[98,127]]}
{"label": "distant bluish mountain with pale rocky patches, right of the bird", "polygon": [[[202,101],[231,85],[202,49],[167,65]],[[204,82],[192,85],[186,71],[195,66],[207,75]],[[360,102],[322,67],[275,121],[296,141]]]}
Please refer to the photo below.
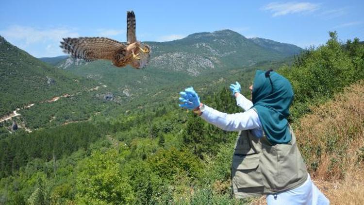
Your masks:
{"label": "distant bluish mountain with pale rocky patches, right of the bird", "polygon": [[[283,59],[303,50],[292,44],[272,40],[257,42],[232,30],[201,32],[173,41],[145,43],[152,48],[149,68],[183,72],[195,77],[205,71],[238,68],[261,61]],[[67,68],[70,63],[70,60],[64,59],[53,65]],[[73,60],[73,64],[79,66],[82,61]]]}

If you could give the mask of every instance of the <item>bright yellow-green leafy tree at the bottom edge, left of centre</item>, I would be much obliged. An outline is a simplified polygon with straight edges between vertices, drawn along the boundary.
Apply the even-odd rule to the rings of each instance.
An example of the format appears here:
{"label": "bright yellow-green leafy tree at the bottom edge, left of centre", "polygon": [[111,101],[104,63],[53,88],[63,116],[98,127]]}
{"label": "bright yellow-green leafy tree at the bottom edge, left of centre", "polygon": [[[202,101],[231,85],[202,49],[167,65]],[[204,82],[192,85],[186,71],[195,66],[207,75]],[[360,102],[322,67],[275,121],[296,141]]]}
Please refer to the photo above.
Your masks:
{"label": "bright yellow-green leafy tree at the bottom edge, left of centre", "polygon": [[128,205],[135,201],[129,177],[120,170],[117,150],[94,152],[77,176],[76,201],[80,204]]}

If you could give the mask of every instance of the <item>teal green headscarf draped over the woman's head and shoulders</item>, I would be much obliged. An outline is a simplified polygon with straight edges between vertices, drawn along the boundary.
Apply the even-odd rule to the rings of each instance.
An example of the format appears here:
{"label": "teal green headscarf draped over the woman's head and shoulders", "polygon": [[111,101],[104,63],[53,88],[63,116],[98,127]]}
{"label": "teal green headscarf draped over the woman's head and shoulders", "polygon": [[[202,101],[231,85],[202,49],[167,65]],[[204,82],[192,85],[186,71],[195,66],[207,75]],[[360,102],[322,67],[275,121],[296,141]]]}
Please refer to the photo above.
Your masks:
{"label": "teal green headscarf draped over the woman's head and shoulders", "polygon": [[252,100],[267,139],[273,144],[291,141],[287,117],[293,89],[289,81],[272,70],[257,70]]}

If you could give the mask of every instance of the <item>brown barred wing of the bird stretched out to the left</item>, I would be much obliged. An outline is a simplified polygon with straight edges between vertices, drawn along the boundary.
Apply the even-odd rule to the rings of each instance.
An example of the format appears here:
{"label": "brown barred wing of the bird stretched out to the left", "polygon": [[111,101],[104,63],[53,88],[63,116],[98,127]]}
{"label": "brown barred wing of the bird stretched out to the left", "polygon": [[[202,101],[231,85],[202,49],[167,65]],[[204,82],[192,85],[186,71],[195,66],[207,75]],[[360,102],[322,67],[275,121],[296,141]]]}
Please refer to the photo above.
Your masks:
{"label": "brown barred wing of the bird stretched out to the left", "polygon": [[63,38],[60,46],[64,52],[85,61],[114,60],[115,54],[125,53],[126,45],[104,37]]}

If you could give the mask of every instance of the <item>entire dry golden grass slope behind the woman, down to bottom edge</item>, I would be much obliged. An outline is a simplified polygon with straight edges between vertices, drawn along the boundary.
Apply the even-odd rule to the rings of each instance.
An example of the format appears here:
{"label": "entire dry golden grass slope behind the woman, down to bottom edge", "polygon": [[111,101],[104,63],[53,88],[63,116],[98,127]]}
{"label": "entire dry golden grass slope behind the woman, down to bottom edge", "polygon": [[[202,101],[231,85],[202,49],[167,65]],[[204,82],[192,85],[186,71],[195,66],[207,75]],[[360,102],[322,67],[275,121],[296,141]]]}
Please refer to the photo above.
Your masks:
{"label": "entire dry golden grass slope behind the woman, down to bottom edge", "polygon": [[333,205],[364,204],[364,82],[313,110],[295,133],[315,185]]}

